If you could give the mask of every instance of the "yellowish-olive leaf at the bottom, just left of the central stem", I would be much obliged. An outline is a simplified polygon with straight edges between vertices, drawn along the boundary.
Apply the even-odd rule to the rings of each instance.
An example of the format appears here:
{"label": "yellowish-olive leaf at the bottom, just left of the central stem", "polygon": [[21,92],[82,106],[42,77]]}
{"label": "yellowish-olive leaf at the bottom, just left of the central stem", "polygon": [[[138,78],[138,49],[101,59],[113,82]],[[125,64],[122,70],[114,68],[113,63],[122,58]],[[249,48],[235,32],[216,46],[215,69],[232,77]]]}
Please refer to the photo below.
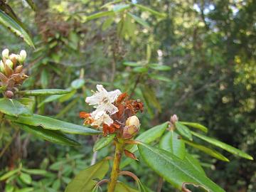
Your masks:
{"label": "yellowish-olive leaf at the bottom, just left of the central stem", "polygon": [[80,171],[75,178],[68,183],[65,192],[91,192],[97,181],[95,178],[102,179],[109,170],[110,165],[107,159],[103,159],[95,165],[89,166],[87,169]]}

